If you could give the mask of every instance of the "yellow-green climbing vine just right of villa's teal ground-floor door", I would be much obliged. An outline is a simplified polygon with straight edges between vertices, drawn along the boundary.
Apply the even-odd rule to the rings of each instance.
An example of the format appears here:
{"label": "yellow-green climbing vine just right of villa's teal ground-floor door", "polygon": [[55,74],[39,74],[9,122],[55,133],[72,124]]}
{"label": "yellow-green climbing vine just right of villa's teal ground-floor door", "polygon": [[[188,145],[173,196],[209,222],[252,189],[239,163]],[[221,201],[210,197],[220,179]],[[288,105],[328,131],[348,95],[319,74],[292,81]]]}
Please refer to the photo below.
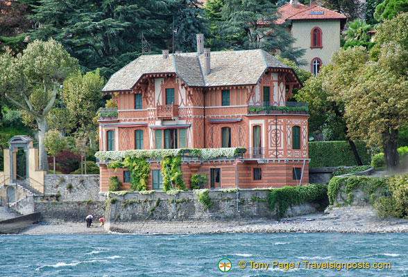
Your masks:
{"label": "yellow-green climbing vine just right of villa's teal ground-floor door", "polygon": [[[173,188],[176,190],[186,190],[180,170],[181,157],[164,157],[160,164],[162,165],[163,190],[167,191]],[[168,172],[170,172],[170,177]]]}

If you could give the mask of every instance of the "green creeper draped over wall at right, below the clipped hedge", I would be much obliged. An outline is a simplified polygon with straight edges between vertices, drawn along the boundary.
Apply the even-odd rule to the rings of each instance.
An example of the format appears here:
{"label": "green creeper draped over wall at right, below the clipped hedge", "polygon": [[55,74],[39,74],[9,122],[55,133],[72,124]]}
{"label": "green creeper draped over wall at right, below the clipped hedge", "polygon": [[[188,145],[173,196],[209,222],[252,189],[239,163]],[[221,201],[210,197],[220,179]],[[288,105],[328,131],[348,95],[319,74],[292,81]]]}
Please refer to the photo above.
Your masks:
{"label": "green creeper draped over wall at right, below the clipped hedge", "polygon": [[[339,193],[350,194],[357,188],[360,188],[368,195],[372,195],[373,193],[386,195],[387,180],[380,177],[367,176],[333,177],[328,184],[328,197],[330,205],[337,203],[336,199]],[[348,198],[349,199],[346,202],[351,204],[352,198]]]}

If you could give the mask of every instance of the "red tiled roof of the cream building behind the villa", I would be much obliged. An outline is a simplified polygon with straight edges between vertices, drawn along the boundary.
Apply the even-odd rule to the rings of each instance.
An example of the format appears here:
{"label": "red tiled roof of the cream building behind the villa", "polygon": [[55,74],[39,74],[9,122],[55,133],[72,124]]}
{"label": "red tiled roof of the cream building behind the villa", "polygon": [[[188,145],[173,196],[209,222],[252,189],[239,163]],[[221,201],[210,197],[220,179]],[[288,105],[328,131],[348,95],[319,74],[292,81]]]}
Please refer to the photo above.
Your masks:
{"label": "red tiled roof of the cream building behind the villa", "polygon": [[345,15],[339,12],[329,10],[314,4],[313,6],[305,6],[298,3],[294,6],[291,3],[286,3],[278,8],[281,17],[276,21],[277,24],[283,24],[287,20],[318,20],[318,19],[341,19],[346,20]]}

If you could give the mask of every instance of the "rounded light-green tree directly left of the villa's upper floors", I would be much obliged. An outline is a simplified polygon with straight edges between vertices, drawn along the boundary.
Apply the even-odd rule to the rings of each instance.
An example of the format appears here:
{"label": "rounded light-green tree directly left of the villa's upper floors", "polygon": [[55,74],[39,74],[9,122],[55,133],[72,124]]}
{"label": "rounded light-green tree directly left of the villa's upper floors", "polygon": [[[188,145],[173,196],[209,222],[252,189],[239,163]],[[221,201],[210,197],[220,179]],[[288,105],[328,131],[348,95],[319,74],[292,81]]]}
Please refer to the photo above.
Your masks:
{"label": "rounded light-green tree directly left of the villa's upper floors", "polygon": [[64,81],[61,98],[74,127],[86,128],[92,125],[99,108],[103,84],[99,69],[96,73],[87,72],[85,75],[77,71]]}

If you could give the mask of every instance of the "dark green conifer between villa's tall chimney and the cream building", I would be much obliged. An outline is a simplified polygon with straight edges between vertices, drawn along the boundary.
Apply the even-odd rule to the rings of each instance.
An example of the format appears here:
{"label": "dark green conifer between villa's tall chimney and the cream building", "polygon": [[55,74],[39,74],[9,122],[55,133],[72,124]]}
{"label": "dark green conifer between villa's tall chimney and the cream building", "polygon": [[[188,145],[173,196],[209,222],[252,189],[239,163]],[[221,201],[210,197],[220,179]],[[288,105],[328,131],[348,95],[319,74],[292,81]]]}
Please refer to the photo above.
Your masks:
{"label": "dark green conifer between villa's tall chimney and the cream building", "polygon": [[277,6],[267,0],[226,1],[221,10],[220,35],[228,39],[230,48],[278,52],[281,57],[299,63],[304,49],[292,48],[294,39],[286,24],[275,24]]}

